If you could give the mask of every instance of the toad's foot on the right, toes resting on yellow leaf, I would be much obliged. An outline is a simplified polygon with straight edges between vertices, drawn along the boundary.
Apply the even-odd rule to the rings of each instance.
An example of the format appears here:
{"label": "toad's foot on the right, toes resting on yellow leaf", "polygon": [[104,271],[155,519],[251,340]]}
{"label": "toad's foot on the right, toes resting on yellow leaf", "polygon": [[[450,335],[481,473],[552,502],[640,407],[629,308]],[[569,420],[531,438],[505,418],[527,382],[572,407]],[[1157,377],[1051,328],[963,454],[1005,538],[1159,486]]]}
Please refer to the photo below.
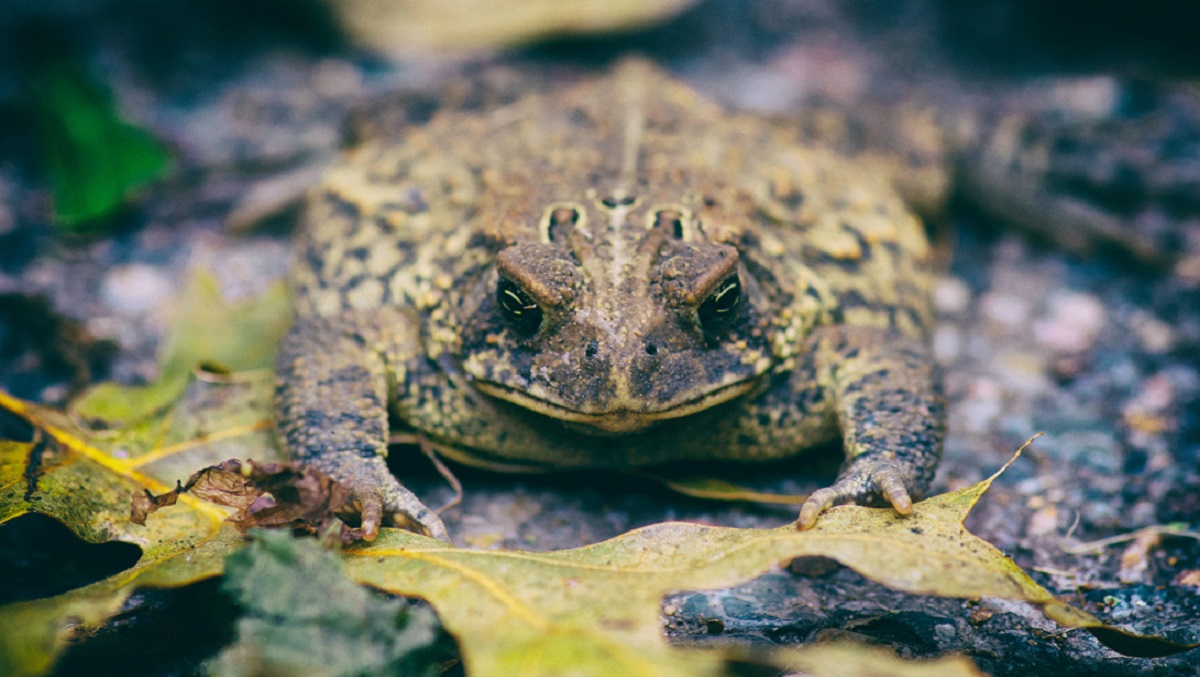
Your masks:
{"label": "toad's foot on the right, toes resting on yellow leaf", "polygon": [[853,463],[842,472],[833,486],[814,491],[800,508],[799,529],[811,529],[817,517],[834,505],[844,503],[890,504],[900,515],[912,514],[912,497],[908,487],[911,469],[894,461],[866,460]]}

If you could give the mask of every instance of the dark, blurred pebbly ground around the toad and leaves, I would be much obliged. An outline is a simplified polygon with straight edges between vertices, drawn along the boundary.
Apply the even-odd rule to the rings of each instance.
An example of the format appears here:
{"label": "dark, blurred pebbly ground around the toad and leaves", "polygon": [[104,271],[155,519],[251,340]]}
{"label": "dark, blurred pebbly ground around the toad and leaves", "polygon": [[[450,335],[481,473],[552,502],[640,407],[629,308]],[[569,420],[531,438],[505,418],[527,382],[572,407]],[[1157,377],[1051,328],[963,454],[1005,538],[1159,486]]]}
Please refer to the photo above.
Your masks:
{"label": "dark, blurred pebbly ground around the toad and leaves", "polygon": [[[913,1],[898,4],[907,13],[877,17],[833,5],[776,1],[748,10],[713,0],[635,37],[556,43],[505,59],[518,67],[595,64],[636,48],[720,98],[776,113],[815,94],[852,97],[899,72],[938,86],[962,82],[977,91],[1055,67],[1088,76],[1196,72],[1196,55],[1169,49],[1170,40],[1153,42],[1156,49],[1130,40],[1114,49],[1111,61],[1104,50],[1064,49],[1037,35],[1036,22],[1049,19],[1022,16],[1020,8],[964,53],[958,41],[940,40],[946,31],[961,37],[955,26],[984,25],[971,17],[977,10]],[[210,24],[228,18],[198,4],[180,7],[214,35],[220,31]],[[388,62],[304,25],[266,30],[253,22],[221,40],[198,29],[179,42],[173,59],[151,64],[139,48],[169,42],[169,34],[151,38],[112,18],[85,29],[84,10],[62,2],[54,11],[70,30],[85,31],[83,54],[106,74],[127,114],[168,142],[178,166],[172,179],[119,217],[116,232],[67,236],[48,223],[31,145],[16,136],[0,144],[0,387],[46,402],[64,402],[91,379],[154,378],[170,300],[188,270],[214,271],[232,296],[253,294],[284,275],[288,215],[247,230],[238,218],[230,222],[230,212],[247,204],[268,210],[271,196],[332,157],[343,120],[364,102],[400,90],[430,91],[464,67]],[[1002,52],[996,44],[1003,30],[1034,31],[1008,35],[1036,37],[1016,62],[994,54]],[[20,124],[19,78],[13,68],[0,70],[0,120],[8,128]],[[258,197],[247,203],[252,192]],[[977,508],[972,531],[1042,585],[1109,622],[1200,641],[1200,269],[1194,260],[1146,266],[1120,253],[1070,254],[967,210],[952,221],[953,258],[936,290],[934,340],[950,402],[936,489],[991,474],[1026,438],[1043,432]],[[407,473],[409,485],[430,504],[449,498],[418,455],[396,456],[415,468]],[[836,462],[834,451],[766,473],[794,478],[788,480],[736,472],[746,483],[800,493],[827,483]],[[466,499],[445,515],[446,523],[460,545],[476,547],[571,547],[665,519],[727,526],[794,519],[791,509],[714,505],[625,478],[467,469],[460,477]],[[19,522],[0,527],[0,552],[61,538],[48,525],[18,529]],[[1102,541],[1174,522],[1190,527],[1192,535]],[[194,591],[134,601],[148,605],[148,613],[197,604]],[[816,577],[779,570],[727,592],[680,594],[664,609],[667,631],[684,643],[792,643],[850,634],[911,657],[962,652],[992,675],[1200,670],[1195,652],[1122,658],[1030,609],[900,595],[848,570]],[[704,622],[712,618],[721,621]],[[108,642],[119,646],[120,631],[113,636]],[[103,651],[85,645],[72,660],[102,660],[95,655]]]}

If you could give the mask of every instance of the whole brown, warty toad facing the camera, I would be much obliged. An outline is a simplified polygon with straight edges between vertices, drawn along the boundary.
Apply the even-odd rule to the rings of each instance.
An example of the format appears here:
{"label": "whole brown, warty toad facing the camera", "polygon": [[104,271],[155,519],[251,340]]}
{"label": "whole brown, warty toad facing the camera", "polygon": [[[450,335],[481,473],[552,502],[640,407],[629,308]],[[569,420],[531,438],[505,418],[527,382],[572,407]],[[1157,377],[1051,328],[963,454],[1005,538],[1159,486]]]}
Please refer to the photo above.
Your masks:
{"label": "whole brown, warty toad facing the camera", "polygon": [[368,538],[384,522],[445,538],[385,467],[389,411],[499,468],[841,439],[846,465],[800,526],[846,502],[908,513],[944,407],[930,248],[901,192],[937,203],[944,175],[848,158],[811,127],[630,62],[365,142],[314,193],[298,248],[277,363],[288,450],[353,486]]}

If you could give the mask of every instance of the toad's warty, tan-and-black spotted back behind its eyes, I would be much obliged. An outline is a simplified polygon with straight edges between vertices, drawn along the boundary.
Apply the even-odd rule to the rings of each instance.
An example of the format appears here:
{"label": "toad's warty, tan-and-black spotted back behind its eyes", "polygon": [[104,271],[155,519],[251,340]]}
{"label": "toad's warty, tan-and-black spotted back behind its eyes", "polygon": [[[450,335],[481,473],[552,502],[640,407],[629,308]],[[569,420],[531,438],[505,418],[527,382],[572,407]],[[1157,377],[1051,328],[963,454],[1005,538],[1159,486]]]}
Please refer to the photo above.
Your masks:
{"label": "toad's warty, tan-and-black spotted back behind its eyes", "polygon": [[[584,236],[565,245],[593,284],[640,293],[631,278],[648,274],[629,252],[654,244],[646,224],[676,206],[680,239],[738,247],[770,302],[798,305],[805,323],[924,332],[928,245],[892,176],[802,136],[641,62],[484,114],[443,112],[326,178],[298,258],[301,311],[445,304],[499,248],[559,242],[547,210],[581,203]],[[636,202],[614,221],[605,199]]]}

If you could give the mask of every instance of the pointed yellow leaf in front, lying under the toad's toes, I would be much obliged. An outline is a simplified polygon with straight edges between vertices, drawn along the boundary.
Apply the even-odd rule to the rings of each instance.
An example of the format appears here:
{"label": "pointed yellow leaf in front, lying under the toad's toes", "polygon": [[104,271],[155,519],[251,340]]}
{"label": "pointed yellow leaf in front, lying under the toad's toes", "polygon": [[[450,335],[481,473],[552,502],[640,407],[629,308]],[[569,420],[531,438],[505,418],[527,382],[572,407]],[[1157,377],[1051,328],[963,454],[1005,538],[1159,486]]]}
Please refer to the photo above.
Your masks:
{"label": "pointed yellow leaf in front, lying under the toad's toes", "polygon": [[458,637],[474,675],[716,675],[719,659],[667,645],[660,605],[667,593],[718,589],[780,562],[836,559],[913,594],[1016,599],[1060,624],[1086,628],[1129,655],[1169,655],[1188,646],[1104,625],[1058,601],[1008,557],[962,526],[991,478],[918,503],[900,517],[844,505],[814,529],[738,529],[667,522],[556,552],[478,551],[388,529],[346,551],[362,583],[420,597]]}

